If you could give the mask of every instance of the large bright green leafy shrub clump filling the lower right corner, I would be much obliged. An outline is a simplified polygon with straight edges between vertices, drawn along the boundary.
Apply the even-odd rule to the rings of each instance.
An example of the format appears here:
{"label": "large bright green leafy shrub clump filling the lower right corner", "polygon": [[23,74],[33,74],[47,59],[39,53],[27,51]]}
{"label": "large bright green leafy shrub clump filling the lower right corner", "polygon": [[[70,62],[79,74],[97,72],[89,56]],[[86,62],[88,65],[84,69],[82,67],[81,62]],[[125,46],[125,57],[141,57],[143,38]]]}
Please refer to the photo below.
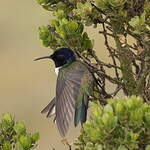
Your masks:
{"label": "large bright green leafy shrub clump filling the lower right corner", "polygon": [[109,99],[94,104],[76,141],[76,150],[149,150],[150,106],[140,97]]}

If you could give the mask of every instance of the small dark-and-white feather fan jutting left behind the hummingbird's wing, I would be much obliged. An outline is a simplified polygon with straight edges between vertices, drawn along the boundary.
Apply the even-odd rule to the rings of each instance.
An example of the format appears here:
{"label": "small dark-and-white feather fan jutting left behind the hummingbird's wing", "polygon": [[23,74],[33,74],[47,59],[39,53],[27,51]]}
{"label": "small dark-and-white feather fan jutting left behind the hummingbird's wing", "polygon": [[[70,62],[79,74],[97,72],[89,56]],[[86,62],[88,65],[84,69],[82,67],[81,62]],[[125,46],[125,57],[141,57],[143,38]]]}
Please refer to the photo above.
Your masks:
{"label": "small dark-and-white feather fan jutting left behind the hummingbird's wing", "polygon": [[[48,112],[48,113],[47,113]],[[55,97],[50,101],[50,103],[41,111],[41,113],[47,113],[46,117],[50,118],[55,114]]]}

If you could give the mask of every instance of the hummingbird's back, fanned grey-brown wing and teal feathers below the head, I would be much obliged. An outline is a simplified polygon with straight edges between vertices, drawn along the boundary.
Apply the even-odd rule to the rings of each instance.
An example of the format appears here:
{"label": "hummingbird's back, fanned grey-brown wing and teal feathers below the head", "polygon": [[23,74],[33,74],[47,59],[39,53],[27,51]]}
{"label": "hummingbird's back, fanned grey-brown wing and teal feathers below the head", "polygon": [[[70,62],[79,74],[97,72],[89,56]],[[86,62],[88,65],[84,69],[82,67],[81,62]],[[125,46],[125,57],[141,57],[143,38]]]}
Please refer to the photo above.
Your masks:
{"label": "hummingbird's back, fanned grey-brown wing and teal feathers below the head", "polygon": [[86,121],[92,84],[92,74],[80,61],[60,69],[56,85],[55,119],[61,136],[66,135],[73,119],[75,126]]}

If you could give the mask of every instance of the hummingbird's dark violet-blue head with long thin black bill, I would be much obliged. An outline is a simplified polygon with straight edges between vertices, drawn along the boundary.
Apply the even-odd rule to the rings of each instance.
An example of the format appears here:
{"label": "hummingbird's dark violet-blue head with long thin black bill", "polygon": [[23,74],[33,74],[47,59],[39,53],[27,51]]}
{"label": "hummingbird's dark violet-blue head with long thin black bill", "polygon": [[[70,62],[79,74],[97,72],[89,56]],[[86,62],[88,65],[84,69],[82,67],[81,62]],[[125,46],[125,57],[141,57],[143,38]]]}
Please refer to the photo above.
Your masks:
{"label": "hummingbird's dark violet-blue head with long thin black bill", "polygon": [[76,60],[74,52],[71,49],[60,48],[57,49],[52,55],[37,58],[35,59],[35,61],[47,58],[52,59],[54,61],[55,67],[61,67],[63,65],[72,63],[73,61]]}

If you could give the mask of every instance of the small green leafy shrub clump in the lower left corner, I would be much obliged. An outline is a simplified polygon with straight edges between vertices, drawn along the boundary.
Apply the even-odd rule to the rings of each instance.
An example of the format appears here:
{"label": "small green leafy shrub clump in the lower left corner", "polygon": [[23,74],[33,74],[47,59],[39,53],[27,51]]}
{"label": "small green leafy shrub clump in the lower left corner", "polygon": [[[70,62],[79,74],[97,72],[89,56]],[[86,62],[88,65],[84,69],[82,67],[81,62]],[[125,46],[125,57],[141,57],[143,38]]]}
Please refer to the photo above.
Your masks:
{"label": "small green leafy shrub clump in the lower left corner", "polygon": [[5,113],[0,121],[0,150],[30,150],[37,146],[39,133],[28,133],[22,122]]}

